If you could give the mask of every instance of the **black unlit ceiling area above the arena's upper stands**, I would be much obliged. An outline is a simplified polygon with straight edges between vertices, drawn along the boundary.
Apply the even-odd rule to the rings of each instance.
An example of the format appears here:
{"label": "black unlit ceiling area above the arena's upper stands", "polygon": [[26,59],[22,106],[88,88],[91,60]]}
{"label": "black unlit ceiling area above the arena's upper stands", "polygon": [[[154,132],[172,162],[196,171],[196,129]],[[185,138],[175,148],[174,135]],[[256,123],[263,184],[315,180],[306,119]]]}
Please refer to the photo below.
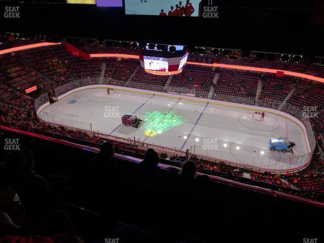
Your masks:
{"label": "black unlit ceiling area above the arena's upper stands", "polygon": [[219,18],[125,15],[123,8],[1,2],[19,6],[0,31],[324,56],[324,1],[217,1]]}

